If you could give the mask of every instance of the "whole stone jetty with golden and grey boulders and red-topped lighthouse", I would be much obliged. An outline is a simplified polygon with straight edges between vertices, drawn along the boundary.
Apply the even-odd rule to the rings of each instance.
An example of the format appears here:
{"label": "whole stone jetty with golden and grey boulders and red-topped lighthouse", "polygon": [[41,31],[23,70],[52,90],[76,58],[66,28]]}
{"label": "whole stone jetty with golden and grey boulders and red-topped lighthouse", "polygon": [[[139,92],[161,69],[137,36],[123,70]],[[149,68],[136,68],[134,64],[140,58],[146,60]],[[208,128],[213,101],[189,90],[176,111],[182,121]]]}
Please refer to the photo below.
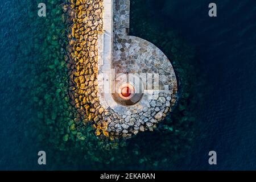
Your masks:
{"label": "whole stone jetty with golden and grey boulders and red-topped lighthouse", "polygon": [[69,95],[96,135],[152,131],[176,102],[177,81],[154,44],[129,36],[130,1],[71,1]]}

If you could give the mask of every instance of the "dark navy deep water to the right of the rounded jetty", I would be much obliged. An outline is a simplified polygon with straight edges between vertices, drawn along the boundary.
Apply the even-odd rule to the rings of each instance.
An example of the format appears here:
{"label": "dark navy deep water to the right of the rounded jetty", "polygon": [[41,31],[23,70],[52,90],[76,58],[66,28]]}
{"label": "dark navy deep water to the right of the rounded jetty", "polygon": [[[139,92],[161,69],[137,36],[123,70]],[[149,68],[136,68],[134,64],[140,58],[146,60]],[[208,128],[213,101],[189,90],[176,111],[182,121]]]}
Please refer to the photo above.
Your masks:
{"label": "dark navy deep water to the right of the rounded jetty", "polygon": [[[155,1],[146,2],[145,9],[155,9]],[[217,4],[216,18],[208,16],[210,2]],[[255,169],[256,2],[159,1],[155,13],[144,16],[163,31],[180,32],[203,60],[197,67],[208,87],[197,88],[204,93],[204,106],[196,111],[206,137],[180,168]],[[210,150],[217,152],[217,166],[207,163]]]}

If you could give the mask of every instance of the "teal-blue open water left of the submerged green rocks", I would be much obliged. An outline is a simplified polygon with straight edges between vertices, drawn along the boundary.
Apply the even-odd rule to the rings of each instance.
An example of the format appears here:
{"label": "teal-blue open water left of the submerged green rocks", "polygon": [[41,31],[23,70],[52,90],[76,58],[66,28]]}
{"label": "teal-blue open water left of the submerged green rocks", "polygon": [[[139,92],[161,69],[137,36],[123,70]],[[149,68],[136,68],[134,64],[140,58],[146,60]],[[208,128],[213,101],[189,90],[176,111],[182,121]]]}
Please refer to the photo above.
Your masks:
{"label": "teal-blue open water left of the submerged green rocks", "polygon": [[[32,80],[31,64],[36,35],[28,14],[30,1],[0,2],[0,168],[28,169],[36,159],[32,146],[36,141],[26,137],[34,111],[29,102]],[[35,157],[34,157],[35,156]]]}

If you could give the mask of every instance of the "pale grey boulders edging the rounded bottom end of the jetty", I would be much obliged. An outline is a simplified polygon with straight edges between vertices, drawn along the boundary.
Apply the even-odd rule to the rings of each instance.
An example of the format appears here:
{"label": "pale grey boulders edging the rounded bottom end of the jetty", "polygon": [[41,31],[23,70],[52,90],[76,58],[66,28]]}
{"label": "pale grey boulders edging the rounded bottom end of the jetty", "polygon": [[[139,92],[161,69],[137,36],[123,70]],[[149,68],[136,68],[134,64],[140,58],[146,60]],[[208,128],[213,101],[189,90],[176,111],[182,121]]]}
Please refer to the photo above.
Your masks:
{"label": "pale grey boulders edging the rounded bottom end of the jetty", "polygon": [[146,107],[131,110],[131,113],[119,115],[113,110],[105,113],[104,119],[108,121],[110,135],[131,137],[139,131],[153,131],[156,124],[162,121],[175,105],[176,91],[175,89],[174,94],[156,91]]}

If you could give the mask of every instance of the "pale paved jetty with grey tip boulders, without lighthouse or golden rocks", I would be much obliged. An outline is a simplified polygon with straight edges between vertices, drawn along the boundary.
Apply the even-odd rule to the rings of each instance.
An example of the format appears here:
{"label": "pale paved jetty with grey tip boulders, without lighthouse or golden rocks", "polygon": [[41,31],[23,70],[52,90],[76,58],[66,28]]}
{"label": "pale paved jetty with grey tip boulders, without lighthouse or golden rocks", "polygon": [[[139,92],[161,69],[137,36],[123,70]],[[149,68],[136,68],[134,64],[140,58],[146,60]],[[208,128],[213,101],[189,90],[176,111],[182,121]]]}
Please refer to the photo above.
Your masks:
{"label": "pale paved jetty with grey tip boulders, without lighthouse or golden rocks", "polygon": [[[176,102],[177,82],[168,58],[154,44],[129,36],[130,1],[104,0],[104,34],[98,37],[98,97],[102,120],[111,135],[130,137],[152,131]],[[143,81],[143,96],[135,105],[114,101],[118,74],[133,73]],[[146,75],[146,76],[145,76]],[[148,85],[152,79],[153,84]],[[159,84],[155,84],[159,82]]]}

